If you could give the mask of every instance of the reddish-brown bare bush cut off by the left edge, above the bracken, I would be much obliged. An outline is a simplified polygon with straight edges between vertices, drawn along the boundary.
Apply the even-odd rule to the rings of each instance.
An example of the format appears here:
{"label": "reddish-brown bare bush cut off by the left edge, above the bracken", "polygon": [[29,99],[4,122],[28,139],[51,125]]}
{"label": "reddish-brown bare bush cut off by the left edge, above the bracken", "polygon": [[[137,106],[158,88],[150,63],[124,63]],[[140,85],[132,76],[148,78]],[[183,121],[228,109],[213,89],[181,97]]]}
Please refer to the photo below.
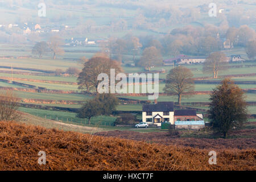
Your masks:
{"label": "reddish-brown bare bush cut off by the left edge, above the bracken", "polygon": [[19,119],[18,108],[19,98],[13,92],[0,93],[0,121],[15,121]]}

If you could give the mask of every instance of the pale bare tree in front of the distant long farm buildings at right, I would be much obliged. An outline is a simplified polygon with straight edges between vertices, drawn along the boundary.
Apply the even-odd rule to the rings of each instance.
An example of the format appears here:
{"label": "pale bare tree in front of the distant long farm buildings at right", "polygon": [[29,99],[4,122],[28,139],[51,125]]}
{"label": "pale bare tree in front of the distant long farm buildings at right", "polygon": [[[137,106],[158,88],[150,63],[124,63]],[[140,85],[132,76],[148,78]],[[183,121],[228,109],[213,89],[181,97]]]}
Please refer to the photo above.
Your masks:
{"label": "pale bare tree in front of the distant long farm buildings at right", "polygon": [[213,78],[218,78],[218,72],[225,70],[226,55],[223,52],[213,52],[204,62],[203,72],[213,73]]}

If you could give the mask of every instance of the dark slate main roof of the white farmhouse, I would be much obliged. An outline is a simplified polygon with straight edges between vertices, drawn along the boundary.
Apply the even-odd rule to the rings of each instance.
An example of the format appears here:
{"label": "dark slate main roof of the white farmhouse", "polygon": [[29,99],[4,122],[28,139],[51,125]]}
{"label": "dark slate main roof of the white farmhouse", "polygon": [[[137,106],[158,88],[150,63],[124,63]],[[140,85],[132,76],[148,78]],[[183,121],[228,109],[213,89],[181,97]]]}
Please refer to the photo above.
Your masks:
{"label": "dark slate main roof of the white farmhouse", "polygon": [[158,102],[158,104],[146,104],[142,106],[142,111],[174,111],[174,102]]}

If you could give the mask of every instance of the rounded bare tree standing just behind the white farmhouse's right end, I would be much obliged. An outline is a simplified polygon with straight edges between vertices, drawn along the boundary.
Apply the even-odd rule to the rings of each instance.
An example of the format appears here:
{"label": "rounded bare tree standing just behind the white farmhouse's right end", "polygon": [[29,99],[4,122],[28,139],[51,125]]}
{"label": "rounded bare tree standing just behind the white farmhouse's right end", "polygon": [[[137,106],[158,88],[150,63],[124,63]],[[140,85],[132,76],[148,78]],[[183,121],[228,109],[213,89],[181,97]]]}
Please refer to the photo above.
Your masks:
{"label": "rounded bare tree standing just behind the white farmhouse's right end", "polygon": [[171,69],[166,76],[166,86],[164,92],[176,94],[178,96],[179,105],[181,104],[181,96],[184,92],[192,92],[195,89],[193,82],[193,73],[185,67],[176,67]]}

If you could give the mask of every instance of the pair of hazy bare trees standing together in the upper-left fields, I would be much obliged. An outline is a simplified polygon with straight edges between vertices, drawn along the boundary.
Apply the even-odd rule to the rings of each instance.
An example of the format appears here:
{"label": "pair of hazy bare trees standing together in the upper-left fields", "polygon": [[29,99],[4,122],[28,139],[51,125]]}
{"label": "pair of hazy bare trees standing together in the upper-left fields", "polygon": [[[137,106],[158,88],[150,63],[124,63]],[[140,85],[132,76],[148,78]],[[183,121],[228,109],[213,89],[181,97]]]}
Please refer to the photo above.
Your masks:
{"label": "pair of hazy bare trees standing together in the upper-left fields", "polygon": [[49,38],[48,42],[38,42],[32,48],[32,53],[38,55],[39,59],[42,58],[42,55],[52,52],[52,59],[56,59],[56,55],[64,55],[63,42],[59,36],[52,36]]}

